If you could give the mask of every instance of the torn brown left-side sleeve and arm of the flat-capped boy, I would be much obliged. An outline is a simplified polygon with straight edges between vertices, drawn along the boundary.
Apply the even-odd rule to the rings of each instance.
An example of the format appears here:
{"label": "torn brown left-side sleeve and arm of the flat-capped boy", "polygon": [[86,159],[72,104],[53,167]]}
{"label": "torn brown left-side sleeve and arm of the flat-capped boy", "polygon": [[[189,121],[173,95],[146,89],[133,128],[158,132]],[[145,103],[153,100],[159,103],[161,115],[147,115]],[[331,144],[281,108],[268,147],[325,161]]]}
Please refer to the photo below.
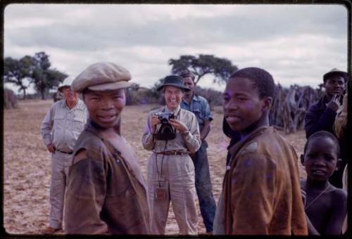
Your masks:
{"label": "torn brown left-side sleeve and arm of the flat-capped boy", "polygon": [[100,214],[106,196],[106,176],[102,160],[80,151],[73,160],[65,195],[65,232],[106,234],[108,226]]}

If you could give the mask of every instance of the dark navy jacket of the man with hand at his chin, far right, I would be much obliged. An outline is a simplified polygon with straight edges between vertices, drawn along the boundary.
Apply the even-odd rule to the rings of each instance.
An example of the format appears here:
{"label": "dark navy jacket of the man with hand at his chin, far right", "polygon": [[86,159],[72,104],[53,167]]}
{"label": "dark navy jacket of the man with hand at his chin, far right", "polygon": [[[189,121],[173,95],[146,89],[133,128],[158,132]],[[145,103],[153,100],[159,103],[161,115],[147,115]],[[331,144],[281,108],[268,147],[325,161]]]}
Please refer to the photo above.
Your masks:
{"label": "dark navy jacket of the man with hand at his chin, far right", "polygon": [[334,124],[334,120],[337,114],[336,111],[330,108],[325,108],[324,112],[322,112],[322,115],[318,115],[314,109],[314,106],[315,105],[312,105],[308,109],[308,112],[304,117],[304,129],[306,130],[307,138],[309,138],[310,135],[317,131],[329,131],[329,129],[332,129],[332,125]]}

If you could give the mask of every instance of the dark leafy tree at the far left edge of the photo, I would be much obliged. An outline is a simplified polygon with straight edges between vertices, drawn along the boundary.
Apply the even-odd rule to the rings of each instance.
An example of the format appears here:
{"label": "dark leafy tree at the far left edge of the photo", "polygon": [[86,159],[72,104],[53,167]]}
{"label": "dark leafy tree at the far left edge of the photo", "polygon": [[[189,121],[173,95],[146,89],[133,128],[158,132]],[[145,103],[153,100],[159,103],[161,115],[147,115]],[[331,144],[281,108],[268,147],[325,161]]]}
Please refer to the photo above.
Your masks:
{"label": "dark leafy tree at the far left edge of the photo", "polygon": [[[24,56],[20,60],[7,57],[4,59],[4,81],[20,86],[18,91],[23,91],[23,99],[26,96],[26,89],[30,86],[32,76],[32,58]],[[25,84],[24,80],[28,83]]]}

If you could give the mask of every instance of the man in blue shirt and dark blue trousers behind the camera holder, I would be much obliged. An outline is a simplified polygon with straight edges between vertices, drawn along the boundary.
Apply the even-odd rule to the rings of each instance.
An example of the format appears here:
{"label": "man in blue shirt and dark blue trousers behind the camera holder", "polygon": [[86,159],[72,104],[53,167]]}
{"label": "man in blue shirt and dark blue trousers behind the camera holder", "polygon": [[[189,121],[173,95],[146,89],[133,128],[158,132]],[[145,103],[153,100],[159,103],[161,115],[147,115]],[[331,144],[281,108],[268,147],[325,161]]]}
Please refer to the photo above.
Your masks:
{"label": "man in blue shirt and dark blue trousers behind the camera holder", "polygon": [[213,221],[215,216],[216,204],[213,196],[213,188],[211,186],[208,155],[206,148],[206,136],[210,131],[210,122],[213,120],[210,107],[206,98],[198,96],[195,92],[194,75],[189,70],[180,72],[180,77],[184,79],[184,84],[190,91],[184,93],[181,102],[181,108],[189,110],[196,115],[199,131],[201,134],[201,148],[193,155],[194,170],[196,172],[196,192],[199,199],[199,207],[201,216],[206,227],[206,233],[213,232]]}

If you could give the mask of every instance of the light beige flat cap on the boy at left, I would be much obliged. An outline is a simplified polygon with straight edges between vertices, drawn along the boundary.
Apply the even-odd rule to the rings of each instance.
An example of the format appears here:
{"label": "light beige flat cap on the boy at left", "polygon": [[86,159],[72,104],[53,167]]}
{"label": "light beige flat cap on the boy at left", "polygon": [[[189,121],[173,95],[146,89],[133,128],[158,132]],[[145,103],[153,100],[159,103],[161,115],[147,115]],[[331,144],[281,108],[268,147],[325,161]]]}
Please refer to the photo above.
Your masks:
{"label": "light beige flat cap on the boy at left", "polygon": [[109,91],[132,86],[130,72],[114,63],[95,63],[89,65],[71,84],[71,89],[82,92],[84,89],[92,91]]}

